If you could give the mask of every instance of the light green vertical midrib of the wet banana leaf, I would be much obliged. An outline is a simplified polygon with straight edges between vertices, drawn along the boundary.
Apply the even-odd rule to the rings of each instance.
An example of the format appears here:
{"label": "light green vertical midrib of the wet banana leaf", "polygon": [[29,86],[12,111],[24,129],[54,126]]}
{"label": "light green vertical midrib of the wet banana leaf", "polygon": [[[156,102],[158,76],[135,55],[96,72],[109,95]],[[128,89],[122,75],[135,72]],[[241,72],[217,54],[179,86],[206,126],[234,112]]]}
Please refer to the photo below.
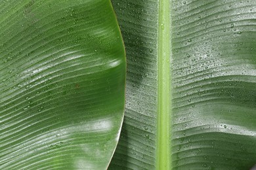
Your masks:
{"label": "light green vertical midrib of the wet banana leaf", "polygon": [[171,169],[170,140],[170,2],[159,0],[158,18],[158,133],[156,147],[156,169]]}

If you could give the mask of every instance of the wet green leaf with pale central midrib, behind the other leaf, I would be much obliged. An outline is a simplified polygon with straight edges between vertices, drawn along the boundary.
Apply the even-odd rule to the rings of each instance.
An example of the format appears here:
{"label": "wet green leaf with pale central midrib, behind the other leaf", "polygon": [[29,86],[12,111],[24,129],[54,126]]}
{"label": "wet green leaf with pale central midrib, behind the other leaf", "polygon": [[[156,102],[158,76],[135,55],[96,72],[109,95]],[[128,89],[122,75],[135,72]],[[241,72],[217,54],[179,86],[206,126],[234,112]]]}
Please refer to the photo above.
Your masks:
{"label": "wet green leaf with pale central midrib, behind the other leaf", "polygon": [[256,1],[112,0],[126,110],[109,169],[256,164]]}

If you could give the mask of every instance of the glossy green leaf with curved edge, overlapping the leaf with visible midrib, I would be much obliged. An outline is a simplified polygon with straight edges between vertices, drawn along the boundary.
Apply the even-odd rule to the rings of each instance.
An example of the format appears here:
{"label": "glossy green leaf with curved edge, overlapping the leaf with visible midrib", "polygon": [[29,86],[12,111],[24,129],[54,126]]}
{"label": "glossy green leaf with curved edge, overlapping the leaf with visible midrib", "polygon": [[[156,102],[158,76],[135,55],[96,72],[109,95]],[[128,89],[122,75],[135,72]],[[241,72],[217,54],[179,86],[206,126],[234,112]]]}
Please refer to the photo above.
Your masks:
{"label": "glossy green leaf with curved edge, overlapping the leaf with visible midrib", "polygon": [[0,59],[0,169],[106,169],[125,103],[110,1],[0,1]]}

